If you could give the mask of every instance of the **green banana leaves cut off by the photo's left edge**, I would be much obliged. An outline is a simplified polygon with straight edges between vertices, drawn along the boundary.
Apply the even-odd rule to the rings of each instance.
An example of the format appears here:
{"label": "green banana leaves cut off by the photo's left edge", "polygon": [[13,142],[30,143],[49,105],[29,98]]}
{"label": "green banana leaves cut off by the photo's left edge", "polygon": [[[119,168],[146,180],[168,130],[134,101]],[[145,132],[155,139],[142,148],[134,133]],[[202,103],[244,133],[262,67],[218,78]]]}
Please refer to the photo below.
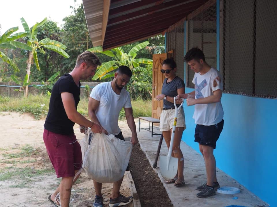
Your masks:
{"label": "green banana leaves cut off by the photo's left edge", "polygon": [[[18,32],[16,34],[13,34],[18,30],[18,27],[12,27],[8,29],[1,37],[0,37],[0,48],[5,49],[16,49],[21,48],[25,50],[32,50],[32,48],[24,43],[16,41],[19,38],[26,37],[28,35],[27,32]],[[0,51],[0,58],[8,63],[12,68],[14,68],[15,71],[19,71],[17,65],[3,52]]]}

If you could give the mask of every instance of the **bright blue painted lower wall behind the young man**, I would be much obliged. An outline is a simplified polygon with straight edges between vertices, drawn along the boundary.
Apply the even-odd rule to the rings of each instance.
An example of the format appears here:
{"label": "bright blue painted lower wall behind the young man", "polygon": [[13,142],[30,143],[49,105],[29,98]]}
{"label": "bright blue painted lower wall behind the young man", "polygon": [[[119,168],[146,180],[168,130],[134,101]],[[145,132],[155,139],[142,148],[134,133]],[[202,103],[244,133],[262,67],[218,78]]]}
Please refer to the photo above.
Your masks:
{"label": "bright blue painted lower wall behind the young man", "polygon": [[[277,100],[223,93],[221,101],[224,128],[214,151],[217,167],[270,206],[277,206]],[[194,107],[184,111],[187,129],[182,140],[199,152],[194,142]]]}

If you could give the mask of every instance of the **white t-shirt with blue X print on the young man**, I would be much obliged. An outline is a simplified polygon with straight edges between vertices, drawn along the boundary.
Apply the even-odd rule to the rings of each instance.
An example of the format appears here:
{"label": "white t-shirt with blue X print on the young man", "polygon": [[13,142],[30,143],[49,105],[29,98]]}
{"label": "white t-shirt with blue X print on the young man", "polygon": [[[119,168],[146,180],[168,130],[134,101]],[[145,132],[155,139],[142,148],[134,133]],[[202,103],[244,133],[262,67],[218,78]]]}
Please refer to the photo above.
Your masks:
{"label": "white t-shirt with blue X print on the young man", "polygon": [[[220,82],[216,77],[220,77]],[[213,83],[216,80],[216,87]],[[213,92],[220,89],[223,91],[222,78],[218,70],[211,68],[204,75],[200,73],[195,73],[192,83],[194,83],[195,88],[195,99],[205,98],[213,95]],[[219,123],[224,115],[221,101],[212,104],[195,104],[194,106],[193,118],[195,124],[202,124],[205,126],[210,126]]]}

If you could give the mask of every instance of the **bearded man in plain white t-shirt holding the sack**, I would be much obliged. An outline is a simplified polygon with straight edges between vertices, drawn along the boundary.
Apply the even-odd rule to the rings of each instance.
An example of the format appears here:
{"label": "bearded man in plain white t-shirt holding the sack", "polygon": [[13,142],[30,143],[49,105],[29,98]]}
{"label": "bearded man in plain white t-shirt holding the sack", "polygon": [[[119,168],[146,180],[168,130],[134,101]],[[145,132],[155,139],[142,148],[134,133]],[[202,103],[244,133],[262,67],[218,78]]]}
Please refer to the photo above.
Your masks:
{"label": "bearded man in plain white t-shirt holding the sack", "polygon": [[[138,143],[136,134],[136,124],[134,122],[133,110],[131,105],[130,94],[124,86],[130,81],[132,72],[127,66],[120,66],[115,73],[115,78],[111,82],[100,83],[91,91],[88,113],[93,122],[102,127],[102,132],[113,134],[118,139],[124,140],[122,132],[118,127],[119,112],[124,108],[126,120],[132,131],[131,142],[133,145]],[[121,183],[113,183],[113,192],[110,197],[109,206],[122,206],[132,201],[132,196],[126,198],[119,192]],[[93,203],[94,207],[103,206],[102,183],[93,181],[96,191],[96,198]]]}

